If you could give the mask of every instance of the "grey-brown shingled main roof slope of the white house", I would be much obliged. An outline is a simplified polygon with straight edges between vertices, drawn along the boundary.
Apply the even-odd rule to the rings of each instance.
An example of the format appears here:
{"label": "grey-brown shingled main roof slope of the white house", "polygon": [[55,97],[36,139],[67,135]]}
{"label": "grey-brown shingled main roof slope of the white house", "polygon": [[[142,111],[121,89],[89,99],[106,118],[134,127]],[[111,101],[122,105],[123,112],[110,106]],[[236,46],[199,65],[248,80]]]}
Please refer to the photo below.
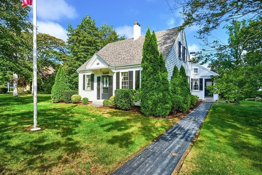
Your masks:
{"label": "grey-brown shingled main roof slope of the white house", "polygon": [[[172,28],[156,32],[158,50],[163,53],[164,59],[168,56],[177,36],[179,34],[178,28]],[[140,36],[137,40],[126,39],[109,43],[103,47],[97,54],[108,64],[108,65],[125,65],[141,63],[142,60],[142,49],[145,40],[145,35]],[[89,60],[88,60],[89,61]],[[85,66],[88,63],[86,61],[79,70],[85,70]]]}

